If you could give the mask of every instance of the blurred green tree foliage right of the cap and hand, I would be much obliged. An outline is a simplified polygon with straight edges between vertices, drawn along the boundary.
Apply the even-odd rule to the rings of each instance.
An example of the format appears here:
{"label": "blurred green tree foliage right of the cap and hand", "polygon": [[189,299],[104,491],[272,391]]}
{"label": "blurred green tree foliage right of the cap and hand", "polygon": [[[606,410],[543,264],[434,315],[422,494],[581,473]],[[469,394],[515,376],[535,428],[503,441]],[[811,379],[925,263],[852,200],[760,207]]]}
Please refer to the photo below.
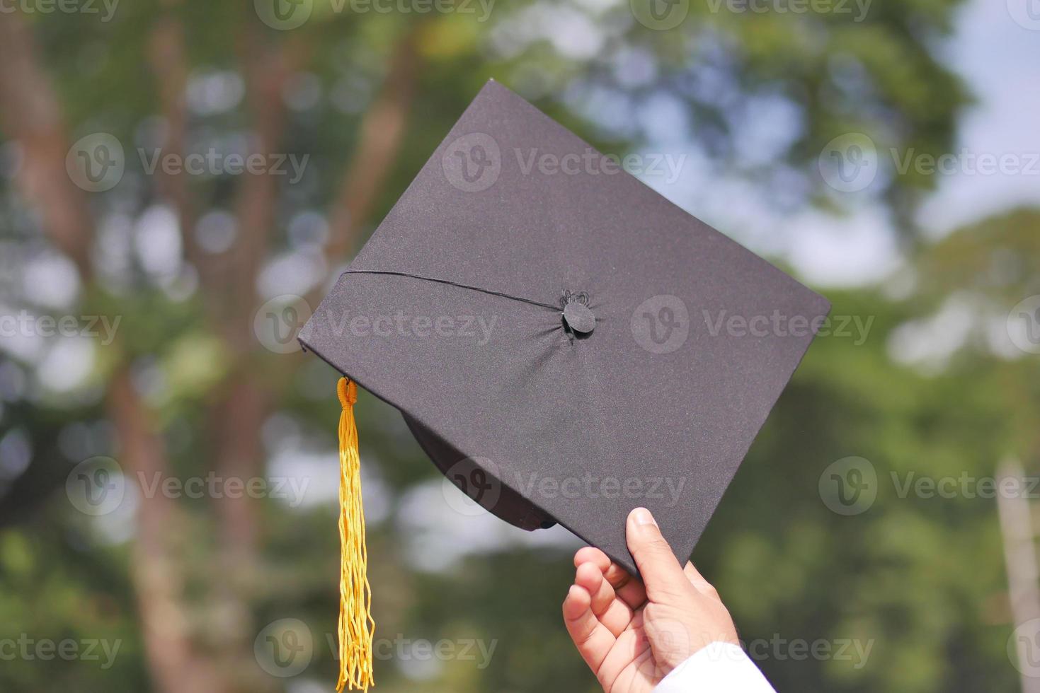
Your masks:
{"label": "blurred green tree foliage right of the cap and hand", "polygon": [[[778,690],[1017,690],[985,484],[1009,457],[1038,474],[1040,378],[1007,326],[1040,295],[1038,231],[1040,213],[1017,210],[928,245],[889,284],[899,298],[829,292],[832,317],[870,324],[867,339],[813,345],[696,557],[748,640],[873,647],[865,667],[769,649]],[[877,475],[877,498],[842,516],[821,484],[849,456]],[[917,494],[921,480],[944,485]]]}

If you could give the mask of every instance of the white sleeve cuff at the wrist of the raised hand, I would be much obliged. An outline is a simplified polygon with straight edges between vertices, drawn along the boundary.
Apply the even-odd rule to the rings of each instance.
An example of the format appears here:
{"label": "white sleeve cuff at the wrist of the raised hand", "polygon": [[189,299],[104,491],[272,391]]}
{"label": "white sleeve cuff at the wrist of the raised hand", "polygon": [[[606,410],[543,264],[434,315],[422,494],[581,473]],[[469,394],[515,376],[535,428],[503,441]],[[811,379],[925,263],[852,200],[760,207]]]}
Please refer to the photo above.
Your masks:
{"label": "white sleeve cuff at the wrist of the raised hand", "polygon": [[776,693],[739,645],[712,642],[665,676],[653,693]]}

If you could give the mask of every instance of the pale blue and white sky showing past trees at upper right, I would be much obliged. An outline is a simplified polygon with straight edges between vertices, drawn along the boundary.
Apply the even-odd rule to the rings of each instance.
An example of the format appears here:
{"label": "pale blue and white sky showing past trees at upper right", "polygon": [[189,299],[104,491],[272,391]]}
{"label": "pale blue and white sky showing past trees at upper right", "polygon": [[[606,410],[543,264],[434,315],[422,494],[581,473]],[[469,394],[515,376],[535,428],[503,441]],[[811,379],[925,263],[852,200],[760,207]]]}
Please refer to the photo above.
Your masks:
{"label": "pale blue and white sky showing past trees at upper right", "polygon": [[[977,104],[960,117],[955,157],[948,170],[936,174],[936,189],[919,212],[928,238],[1016,206],[1040,206],[1040,19],[1032,19],[1026,3],[1034,3],[1033,15],[1040,18],[1040,0],[968,0],[952,37],[936,49]],[[788,108],[757,105],[755,117],[742,126],[742,157],[753,159],[783,144],[785,132],[797,126],[798,115]],[[589,110],[602,113],[604,104]],[[685,125],[674,104],[649,110],[646,130],[666,134],[654,135],[644,152],[670,152],[680,165],[677,176],[665,170],[641,178],[695,216],[756,252],[790,264],[821,289],[885,282],[900,267],[896,234],[886,210],[870,199],[869,186],[838,194],[850,209],[842,216],[818,209],[780,215],[765,191],[721,178],[703,153],[669,138],[667,133],[682,132]],[[974,163],[980,156],[1008,155],[1029,172],[983,175]],[[889,155],[882,151],[879,157]]]}

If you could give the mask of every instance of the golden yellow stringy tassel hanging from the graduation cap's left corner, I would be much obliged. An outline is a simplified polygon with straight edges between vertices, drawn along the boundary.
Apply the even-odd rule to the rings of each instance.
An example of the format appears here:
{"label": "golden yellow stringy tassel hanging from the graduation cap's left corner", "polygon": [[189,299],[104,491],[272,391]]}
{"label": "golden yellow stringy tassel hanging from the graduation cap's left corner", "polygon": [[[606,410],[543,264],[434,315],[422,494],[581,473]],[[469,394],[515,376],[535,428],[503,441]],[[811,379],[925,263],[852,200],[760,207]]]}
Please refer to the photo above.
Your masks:
{"label": "golden yellow stringy tassel hanging from the graduation cap's left corner", "polygon": [[368,549],[365,513],[361,506],[361,457],[354,403],[358,389],[347,378],[337,387],[343,412],[339,417],[339,679],[336,690],[367,691],[372,678],[372,636],[375,621],[369,611],[372,589],[368,584]]}

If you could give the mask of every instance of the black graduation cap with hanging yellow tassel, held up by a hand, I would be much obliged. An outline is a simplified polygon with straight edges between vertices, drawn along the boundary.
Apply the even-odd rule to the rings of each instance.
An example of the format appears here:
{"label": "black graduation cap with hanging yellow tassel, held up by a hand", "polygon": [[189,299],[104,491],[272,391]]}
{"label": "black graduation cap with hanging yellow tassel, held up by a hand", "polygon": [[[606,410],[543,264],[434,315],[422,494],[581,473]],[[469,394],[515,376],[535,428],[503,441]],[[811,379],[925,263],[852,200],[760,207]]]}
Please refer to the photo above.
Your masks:
{"label": "black graduation cap with hanging yellow tassel, held up by a hand", "polygon": [[688,557],[828,311],[489,82],[300,334],[348,378],[339,686],[371,681],[355,383],[474,502],[636,575],[629,511]]}

